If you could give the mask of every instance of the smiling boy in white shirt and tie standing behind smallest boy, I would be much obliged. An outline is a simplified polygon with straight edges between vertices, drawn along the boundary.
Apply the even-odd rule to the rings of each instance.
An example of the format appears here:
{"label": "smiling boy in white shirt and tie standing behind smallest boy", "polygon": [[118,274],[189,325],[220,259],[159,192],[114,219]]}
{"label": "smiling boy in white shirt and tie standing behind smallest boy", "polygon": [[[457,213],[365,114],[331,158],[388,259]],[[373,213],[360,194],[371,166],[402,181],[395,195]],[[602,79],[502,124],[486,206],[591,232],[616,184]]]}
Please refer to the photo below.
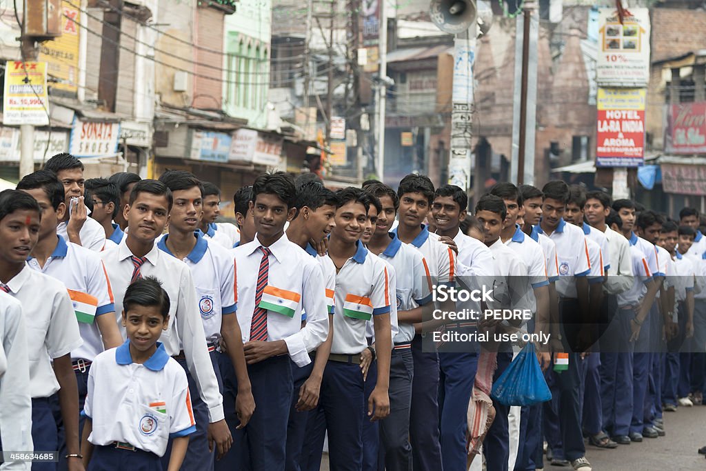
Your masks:
{"label": "smiling boy in white shirt and tie standing behind smallest boy", "polygon": [[220,456],[230,448],[232,436],[208,354],[193,277],[186,263],[165,254],[155,244],[169,221],[171,207],[172,192],[166,185],[157,180],[139,181],[124,210],[127,237],[113,249],[103,251],[101,257],[113,287],[116,312],[123,309],[122,298],[128,285],[143,276],[160,280],[169,294],[169,328],[162,333],[162,343],[167,354],[186,360],[187,377],[191,376],[195,381],[192,386],[198,388],[198,395],[193,390],[192,396],[201,399],[199,403],[194,399],[194,407],[208,408],[209,444],[215,442]]}

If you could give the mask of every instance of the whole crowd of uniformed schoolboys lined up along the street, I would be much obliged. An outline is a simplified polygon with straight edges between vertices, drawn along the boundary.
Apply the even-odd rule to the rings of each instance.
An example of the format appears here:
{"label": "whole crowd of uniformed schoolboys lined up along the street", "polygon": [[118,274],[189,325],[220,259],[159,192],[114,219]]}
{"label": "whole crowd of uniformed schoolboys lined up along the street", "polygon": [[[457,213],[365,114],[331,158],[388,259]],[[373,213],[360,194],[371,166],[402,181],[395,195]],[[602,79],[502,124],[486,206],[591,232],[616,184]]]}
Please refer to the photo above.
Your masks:
{"label": "whole crowd of uniformed schoolboys lined up along the street", "polygon": [[[328,436],[333,471],[590,471],[585,439],[654,439],[702,401],[692,208],[550,181],[471,214],[418,174],[331,191],[276,172],[233,201],[219,223],[189,172],[84,180],[68,154],[0,193],[0,469],[318,471]],[[436,315],[502,309],[531,316]],[[546,335],[551,400],[488,399],[474,424],[522,347],[479,333]]]}

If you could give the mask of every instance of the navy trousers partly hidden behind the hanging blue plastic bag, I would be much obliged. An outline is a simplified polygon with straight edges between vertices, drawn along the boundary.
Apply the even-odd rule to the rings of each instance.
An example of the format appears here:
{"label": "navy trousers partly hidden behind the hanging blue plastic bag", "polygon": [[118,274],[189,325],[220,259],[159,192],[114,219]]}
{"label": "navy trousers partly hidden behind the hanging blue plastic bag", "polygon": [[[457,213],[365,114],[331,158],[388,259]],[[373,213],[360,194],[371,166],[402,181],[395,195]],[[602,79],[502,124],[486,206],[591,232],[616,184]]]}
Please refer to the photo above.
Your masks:
{"label": "navy trousers partly hidden behind the hanging blue plastic bag", "polygon": [[[493,383],[500,378],[501,374],[510,366],[512,361],[512,353],[498,352],[498,369],[496,369],[493,374]],[[508,414],[510,413],[510,406],[498,403],[498,401],[493,399],[493,407],[495,407],[495,420],[493,420],[493,424],[483,442],[483,453],[486,457],[486,470],[507,471],[508,459],[510,458],[510,435],[508,432]]]}

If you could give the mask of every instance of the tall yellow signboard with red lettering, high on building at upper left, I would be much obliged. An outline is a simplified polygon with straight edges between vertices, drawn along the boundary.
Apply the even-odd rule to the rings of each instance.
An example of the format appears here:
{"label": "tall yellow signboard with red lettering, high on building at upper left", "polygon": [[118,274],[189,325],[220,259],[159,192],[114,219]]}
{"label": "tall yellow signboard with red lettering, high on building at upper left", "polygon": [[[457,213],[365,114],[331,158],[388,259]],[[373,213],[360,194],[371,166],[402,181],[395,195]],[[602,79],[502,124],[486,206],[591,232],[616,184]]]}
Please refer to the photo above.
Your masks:
{"label": "tall yellow signboard with red lettering, high on building at upper left", "polygon": [[54,80],[53,90],[78,91],[78,43],[81,12],[71,2],[61,2],[61,36],[40,46],[40,61],[47,62],[47,74]]}

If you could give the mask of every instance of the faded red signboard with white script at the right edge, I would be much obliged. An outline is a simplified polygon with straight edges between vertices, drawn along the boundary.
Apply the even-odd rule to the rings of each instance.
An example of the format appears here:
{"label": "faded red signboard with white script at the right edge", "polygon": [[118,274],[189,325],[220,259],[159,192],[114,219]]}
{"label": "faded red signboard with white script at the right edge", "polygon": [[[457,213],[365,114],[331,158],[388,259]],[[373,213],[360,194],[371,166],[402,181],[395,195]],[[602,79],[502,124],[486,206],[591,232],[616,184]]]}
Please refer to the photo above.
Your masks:
{"label": "faded red signboard with white script at the right edge", "polygon": [[664,152],[706,154],[706,102],[667,106]]}

